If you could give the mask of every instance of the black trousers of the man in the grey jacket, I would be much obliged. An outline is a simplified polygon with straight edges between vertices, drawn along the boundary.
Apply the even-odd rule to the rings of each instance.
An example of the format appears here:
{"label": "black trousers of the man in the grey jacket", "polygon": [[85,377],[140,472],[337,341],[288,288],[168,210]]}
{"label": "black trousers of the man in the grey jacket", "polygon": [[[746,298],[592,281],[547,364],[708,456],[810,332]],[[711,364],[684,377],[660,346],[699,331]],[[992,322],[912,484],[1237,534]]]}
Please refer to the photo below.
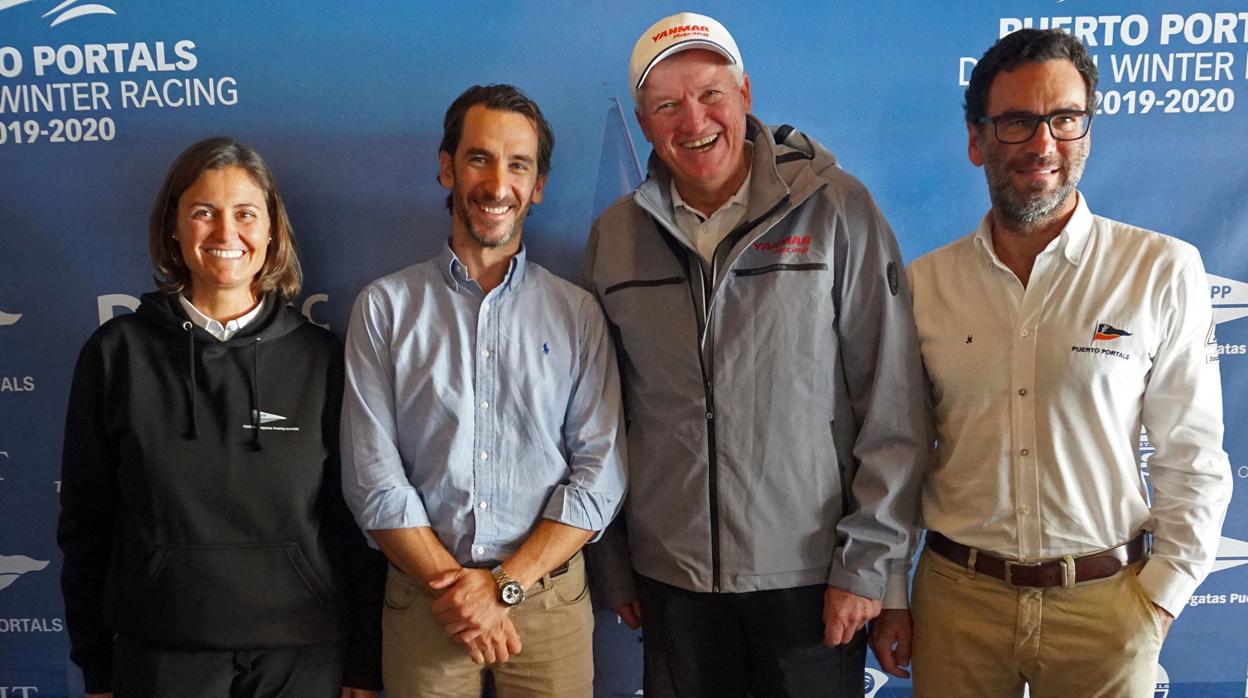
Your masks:
{"label": "black trousers of the man in the grey jacket", "polygon": [[824,589],[716,594],[638,577],[645,697],[861,697],[866,632],[825,647]]}

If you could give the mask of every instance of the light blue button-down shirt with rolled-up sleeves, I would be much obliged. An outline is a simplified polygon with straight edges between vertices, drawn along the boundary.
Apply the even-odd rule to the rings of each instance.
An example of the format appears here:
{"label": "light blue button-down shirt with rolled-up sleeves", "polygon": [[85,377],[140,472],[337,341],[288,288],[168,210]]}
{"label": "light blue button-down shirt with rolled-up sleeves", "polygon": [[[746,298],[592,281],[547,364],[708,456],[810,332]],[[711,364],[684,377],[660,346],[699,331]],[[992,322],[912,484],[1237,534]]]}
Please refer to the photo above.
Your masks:
{"label": "light blue button-down shirt with rolled-up sleeves", "polygon": [[429,526],[461,564],[505,559],[540,518],[600,532],[624,497],[602,311],[523,248],[489,293],[449,247],[368,285],[342,411],[361,528]]}

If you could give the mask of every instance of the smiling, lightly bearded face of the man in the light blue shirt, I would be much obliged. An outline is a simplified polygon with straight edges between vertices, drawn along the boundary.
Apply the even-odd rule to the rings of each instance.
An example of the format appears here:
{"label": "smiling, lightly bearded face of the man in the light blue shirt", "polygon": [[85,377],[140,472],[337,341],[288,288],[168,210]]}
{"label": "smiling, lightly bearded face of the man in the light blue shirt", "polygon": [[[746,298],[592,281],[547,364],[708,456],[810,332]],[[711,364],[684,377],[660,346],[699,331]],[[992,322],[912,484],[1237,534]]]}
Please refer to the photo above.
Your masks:
{"label": "smiling, lightly bearded face of the man in the light blue shirt", "polygon": [[542,202],[538,132],[523,114],[473,105],[456,152],[438,154],[451,190],[452,236],[485,248],[519,248],[529,206]]}

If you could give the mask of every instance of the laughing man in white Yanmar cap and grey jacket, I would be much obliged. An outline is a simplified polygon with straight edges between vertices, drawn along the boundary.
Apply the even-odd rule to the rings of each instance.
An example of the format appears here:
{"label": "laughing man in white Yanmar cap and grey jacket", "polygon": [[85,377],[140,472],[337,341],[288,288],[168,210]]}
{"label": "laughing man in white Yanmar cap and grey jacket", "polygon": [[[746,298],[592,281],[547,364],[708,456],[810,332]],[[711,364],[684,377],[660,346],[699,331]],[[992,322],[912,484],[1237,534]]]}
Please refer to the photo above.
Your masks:
{"label": "laughing man in white Yanmar cap and grey jacket", "polygon": [[648,697],[861,696],[931,445],[896,242],[830,152],[749,116],[711,17],[656,22],[630,77],[650,174],[585,262],[633,463],[595,578],[644,626]]}

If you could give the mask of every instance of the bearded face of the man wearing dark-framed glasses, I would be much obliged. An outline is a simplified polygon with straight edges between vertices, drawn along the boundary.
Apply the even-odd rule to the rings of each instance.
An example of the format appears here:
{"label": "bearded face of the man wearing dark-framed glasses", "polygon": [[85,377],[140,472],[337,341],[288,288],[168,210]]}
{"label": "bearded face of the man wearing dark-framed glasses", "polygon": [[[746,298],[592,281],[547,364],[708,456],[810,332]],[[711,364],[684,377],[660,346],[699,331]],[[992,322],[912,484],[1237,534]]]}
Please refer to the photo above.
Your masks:
{"label": "bearded face of the man wearing dark-framed glasses", "polygon": [[[1027,62],[993,77],[985,107],[988,116],[1080,111],[1087,109],[1087,84],[1068,60]],[[1028,141],[1002,144],[991,124],[967,124],[967,130],[971,162],[983,166],[993,212],[1010,227],[1033,230],[1075,210],[1091,132],[1058,141],[1041,124]]]}

